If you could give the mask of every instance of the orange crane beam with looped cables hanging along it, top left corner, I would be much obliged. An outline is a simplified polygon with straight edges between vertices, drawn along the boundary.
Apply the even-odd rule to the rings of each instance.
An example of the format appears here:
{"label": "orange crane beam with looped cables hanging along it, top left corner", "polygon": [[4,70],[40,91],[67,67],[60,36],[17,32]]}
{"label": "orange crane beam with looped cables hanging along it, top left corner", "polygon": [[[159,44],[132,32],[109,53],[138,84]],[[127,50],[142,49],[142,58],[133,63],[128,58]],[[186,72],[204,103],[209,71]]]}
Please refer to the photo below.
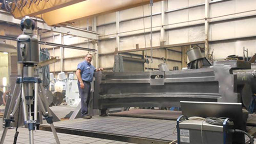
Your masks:
{"label": "orange crane beam with looped cables hanging along it, top left corner", "polygon": [[[24,6],[22,9],[15,8],[12,12],[12,15],[16,19],[22,19],[24,16],[36,16],[39,14],[43,14],[45,12],[50,12],[71,4],[76,4],[82,2],[84,0],[50,0],[50,1],[38,1],[36,3],[32,2],[29,6],[30,1]],[[37,5],[38,4],[38,5]],[[15,3],[11,4],[12,6]]]}

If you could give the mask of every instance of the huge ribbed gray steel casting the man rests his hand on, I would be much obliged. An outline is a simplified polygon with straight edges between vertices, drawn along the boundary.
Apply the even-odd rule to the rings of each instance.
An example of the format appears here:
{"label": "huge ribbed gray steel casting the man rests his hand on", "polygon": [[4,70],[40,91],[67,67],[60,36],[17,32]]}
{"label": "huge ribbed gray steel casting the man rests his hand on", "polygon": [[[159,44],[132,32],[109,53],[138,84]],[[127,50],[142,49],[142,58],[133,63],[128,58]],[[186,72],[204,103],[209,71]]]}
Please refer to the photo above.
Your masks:
{"label": "huge ribbed gray steel casting the man rests his hand on", "polygon": [[156,72],[96,72],[93,107],[170,107],[180,100],[241,102],[228,65]]}

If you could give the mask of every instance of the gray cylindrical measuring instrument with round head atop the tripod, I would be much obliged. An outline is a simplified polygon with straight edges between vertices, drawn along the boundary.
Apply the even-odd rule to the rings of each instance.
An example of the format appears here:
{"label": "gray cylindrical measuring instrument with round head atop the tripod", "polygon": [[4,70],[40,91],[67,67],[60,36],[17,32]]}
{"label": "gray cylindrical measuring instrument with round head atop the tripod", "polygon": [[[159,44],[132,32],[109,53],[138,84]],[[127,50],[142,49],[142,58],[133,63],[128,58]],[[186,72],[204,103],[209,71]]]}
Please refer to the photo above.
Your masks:
{"label": "gray cylindrical measuring instrument with round head atop the tripod", "polygon": [[33,35],[35,22],[25,16],[20,21],[20,28],[23,32],[17,37],[18,63],[34,66],[39,62],[38,39]]}

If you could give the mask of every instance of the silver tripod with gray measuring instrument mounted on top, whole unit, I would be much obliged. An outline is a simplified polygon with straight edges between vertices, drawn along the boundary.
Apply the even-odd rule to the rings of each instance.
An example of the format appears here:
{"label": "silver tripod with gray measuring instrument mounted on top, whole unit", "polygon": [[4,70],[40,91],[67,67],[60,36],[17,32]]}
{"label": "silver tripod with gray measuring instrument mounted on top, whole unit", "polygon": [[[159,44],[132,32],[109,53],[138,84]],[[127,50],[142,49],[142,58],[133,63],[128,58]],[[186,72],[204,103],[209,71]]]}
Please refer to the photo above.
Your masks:
{"label": "silver tripod with gray measuring instrument mounted on top, whole unit", "polygon": [[[22,35],[17,38],[18,63],[22,64],[22,76],[18,77],[11,97],[11,102],[4,119],[4,131],[0,144],[4,139],[10,125],[19,118],[14,117],[23,112],[24,124],[28,126],[29,142],[34,144],[34,130],[38,122],[38,112],[41,113],[48,124],[50,124],[57,144],[60,144],[58,135],[53,125],[52,114],[46,99],[44,87],[39,77],[35,77],[34,66],[39,61],[38,40],[33,35],[35,23],[29,17],[21,20],[20,27]],[[18,113],[18,114],[17,114]],[[19,123],[17,123],[19,125]],[[18,132],[15,133],[17,140]],[[14,141],[15,141],[14,139]],[[15,143],[15,142],[14,142]]]}

